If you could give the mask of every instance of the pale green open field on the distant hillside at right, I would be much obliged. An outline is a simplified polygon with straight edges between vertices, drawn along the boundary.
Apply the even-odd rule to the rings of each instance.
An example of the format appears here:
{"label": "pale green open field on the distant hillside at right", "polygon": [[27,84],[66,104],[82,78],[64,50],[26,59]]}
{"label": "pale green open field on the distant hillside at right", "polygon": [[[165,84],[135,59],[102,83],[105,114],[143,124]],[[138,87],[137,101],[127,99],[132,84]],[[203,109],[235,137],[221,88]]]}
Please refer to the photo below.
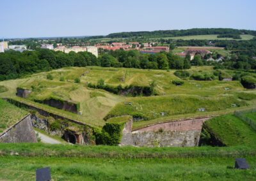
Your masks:
{"label": "pale green open field on the distant hillside at right", "polygon": [[[233,38],[217,38],[218,34],[206,34],[206,35],[193,35],[193,36],[176,36],[176,37],[166,37],[164,39],[173,39],[173,40],[252,40],[253,35],[250,34],[241,34],[242,39],[233,39]],[[155,38],[154,38],[155,39]]]}

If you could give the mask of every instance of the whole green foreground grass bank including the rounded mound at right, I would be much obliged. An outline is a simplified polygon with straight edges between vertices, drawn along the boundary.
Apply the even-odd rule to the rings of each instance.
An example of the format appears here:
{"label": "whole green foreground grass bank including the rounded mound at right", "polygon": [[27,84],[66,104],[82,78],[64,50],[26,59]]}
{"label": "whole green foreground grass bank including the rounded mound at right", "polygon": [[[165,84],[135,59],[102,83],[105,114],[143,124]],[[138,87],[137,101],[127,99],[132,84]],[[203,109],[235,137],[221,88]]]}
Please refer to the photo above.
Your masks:
{"label": "whole green foreground grass bank including the rounded mound at right", "polygon": [[[0,178],[35,180],[36,168],[50,166],[55,180],[255,180],[256,132],[232,115],[207,120],[207,125],[228,147],[0,143]],[[244,157],[251,169],[235,170],[235,157]]]}

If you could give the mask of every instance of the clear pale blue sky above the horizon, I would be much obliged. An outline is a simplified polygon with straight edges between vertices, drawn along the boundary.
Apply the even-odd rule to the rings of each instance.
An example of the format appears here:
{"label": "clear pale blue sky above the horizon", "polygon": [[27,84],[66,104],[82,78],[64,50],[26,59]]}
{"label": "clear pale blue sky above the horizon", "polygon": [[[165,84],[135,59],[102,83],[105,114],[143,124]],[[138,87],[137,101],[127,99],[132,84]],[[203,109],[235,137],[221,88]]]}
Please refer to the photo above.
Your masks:
{"label": "clear pale blue sky above the horizon", "polygon": [[256,30],[255,0],[1,0],[0,38],[195,27]]}

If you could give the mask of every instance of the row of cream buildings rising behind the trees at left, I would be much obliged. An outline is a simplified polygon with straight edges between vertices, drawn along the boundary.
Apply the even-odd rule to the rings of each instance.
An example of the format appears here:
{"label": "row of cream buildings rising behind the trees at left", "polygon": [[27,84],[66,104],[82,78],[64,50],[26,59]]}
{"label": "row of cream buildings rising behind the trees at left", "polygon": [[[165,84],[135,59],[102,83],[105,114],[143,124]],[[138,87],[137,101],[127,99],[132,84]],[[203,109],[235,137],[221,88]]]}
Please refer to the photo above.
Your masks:
{"label": "row of cream buildings rising behind the trees at left", "polygon": [[95,46],[84,46],[84,47],[74,46],[74,47],[70,47],[70,48],[67,48],[65,46],[58,46],[58,47],[54,48],[53,44],[42,44],[41,48],[47,48],[50,50],[61,51],[61,52],[65,52],[65,53],[90,52],[93,55],[95,55],[96,57],[98,57],[98,48]]}

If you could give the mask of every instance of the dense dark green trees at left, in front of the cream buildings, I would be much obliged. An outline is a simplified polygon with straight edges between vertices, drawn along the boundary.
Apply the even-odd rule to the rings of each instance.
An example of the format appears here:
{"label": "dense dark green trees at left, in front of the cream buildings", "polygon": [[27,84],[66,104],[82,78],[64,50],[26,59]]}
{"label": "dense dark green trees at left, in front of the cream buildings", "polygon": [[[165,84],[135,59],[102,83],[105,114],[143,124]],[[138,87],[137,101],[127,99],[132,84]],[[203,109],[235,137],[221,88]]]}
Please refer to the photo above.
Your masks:
{"label": "dense dark green trees at left, in front of the cream buildings", "polygon": [[68,66],[100,66],[100,62],[90,52],[65,54],[41,48],[22,53],[8,50],[0,53],[0,81]]}

